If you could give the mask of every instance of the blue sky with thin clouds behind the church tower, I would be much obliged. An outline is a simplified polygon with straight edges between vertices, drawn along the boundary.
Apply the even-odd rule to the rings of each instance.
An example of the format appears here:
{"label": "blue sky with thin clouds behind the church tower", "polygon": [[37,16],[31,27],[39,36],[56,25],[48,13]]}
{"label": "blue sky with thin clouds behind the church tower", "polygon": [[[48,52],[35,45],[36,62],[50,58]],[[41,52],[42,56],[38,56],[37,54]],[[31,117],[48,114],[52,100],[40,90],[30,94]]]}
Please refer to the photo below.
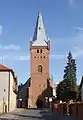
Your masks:
{"label": "blue sky with thin clouds behind the church tower", "polygon": [[19,83],[29,77],[29,40],[42,9],[51,42],[50,75],[63,79],[67,54],[77,64],[77,83],[83,75],[83,0],[0,0],[0,63],[12,68]]}

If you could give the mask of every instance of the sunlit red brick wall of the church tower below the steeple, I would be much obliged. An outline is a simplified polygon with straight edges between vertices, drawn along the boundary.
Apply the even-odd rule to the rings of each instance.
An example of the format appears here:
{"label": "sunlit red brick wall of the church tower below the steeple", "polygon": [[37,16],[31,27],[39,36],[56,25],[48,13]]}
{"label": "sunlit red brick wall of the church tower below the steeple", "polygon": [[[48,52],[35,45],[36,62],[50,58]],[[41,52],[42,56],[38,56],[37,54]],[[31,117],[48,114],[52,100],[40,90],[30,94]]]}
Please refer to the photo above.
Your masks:
{"label": "sunlit red brick wall of the church tower below the steeple", "polygon": [[[47,89],[47,79],[49,78],[49,46],[36,47],[32,46],[31,43],[32,42],[30,42],[31,86],[29,88],[29,99],[32,101],[30,104],[35,106],[38,96],[40,96],[42,92]],[[37,53],[37,49],[39,50],[39,53]],[[42,53],[40,53],[41,49]],[[38,65],[42,66],[42,73],[38,72]],[[42,99],[43,97],[44,96],[42,96]]]}

